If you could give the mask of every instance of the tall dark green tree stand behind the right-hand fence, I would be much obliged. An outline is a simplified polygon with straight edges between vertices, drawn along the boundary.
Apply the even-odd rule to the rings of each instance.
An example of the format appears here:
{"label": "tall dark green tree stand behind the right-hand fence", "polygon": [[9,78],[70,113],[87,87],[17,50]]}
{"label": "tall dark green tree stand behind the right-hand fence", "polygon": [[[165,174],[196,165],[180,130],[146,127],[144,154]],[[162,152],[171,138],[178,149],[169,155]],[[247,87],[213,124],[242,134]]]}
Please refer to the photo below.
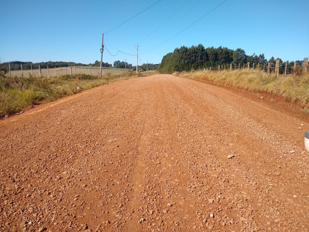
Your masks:
{"label": "tall dark green tree stand behind the right-hand fence", "polygon": [[[285,71],[285,63],[287,62],[287,74],[292,72],[294,67],[294,61],[283,62],[280,58],[280,67],[279,73]],[[269,61],[265,58],[264,54],[256,55],[246,55],[245,51],[241,48],[236,50],[229,49],[226,47],[220,46],[218,48],[205,47],[202,44],[188,48],[182,46],[176,48],[174,52],[170,52],[163,56],[162,62],[159,66],[159,71],[161,73],[173,73],[175,71],[190,71],[191,69],[202,69],[207,67],[215,67],[218,65],[231,65],[234,68],[235,65],[238,68],[239,64],[243,67],[243,64],[250,62],[250,67],[255,63],[257,68],[258,64],[260,69],[263,68],[265,63],[265,68],[267,68],[268,63],[271,67],[275,67],[276,59],[274,57],[270,58]],[[295,61],[297,66],[300,67],[303,64],[303,61]]]}

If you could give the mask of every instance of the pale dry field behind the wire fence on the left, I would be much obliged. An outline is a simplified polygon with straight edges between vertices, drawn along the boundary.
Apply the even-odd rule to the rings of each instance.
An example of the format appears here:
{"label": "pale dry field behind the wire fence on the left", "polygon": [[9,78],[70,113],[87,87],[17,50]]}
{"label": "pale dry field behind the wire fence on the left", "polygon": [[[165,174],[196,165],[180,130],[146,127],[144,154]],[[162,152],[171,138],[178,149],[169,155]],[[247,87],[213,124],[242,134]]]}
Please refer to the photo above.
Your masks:
{"label": "pale dry field behind the wire fence on the left", "polygon": [[[124,71],[124,68],[102,68],[102,74],[104,73],[121,73]],[[71,74],[71,67],[61,67],[61,68],[42,68],[41,69],[42,76],[48,77],[48,76],[58,76],[58,75],[70,75]],[[83,66],[83,67],[72,67],[72,74],[88,74],[88,75],[99,75],[100,74],[100,67],[91,67],[91,66]],[[39,76],[39,69],[32,69],[31,70],[23,70],[23,76],[29,76],[29,74],[33,74],[34,76]],[[6,76],[9,76],[10,73],[6,74]],[[22,71],[11,71],[12,76],[22,76]]]}

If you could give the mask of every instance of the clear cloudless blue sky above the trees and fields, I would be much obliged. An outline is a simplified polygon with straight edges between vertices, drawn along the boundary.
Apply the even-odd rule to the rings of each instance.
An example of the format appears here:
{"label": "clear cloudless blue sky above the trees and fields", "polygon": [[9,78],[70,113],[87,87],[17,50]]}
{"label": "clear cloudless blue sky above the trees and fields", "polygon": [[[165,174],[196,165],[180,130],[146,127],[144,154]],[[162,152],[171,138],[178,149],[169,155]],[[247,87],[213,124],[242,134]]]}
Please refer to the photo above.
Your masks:
{"label": "clear cloudless blue sky above the trees and fields", "polygon": [[110,31],[157,1],[0,0],[0,57],[2,62],[94,63],[101,57],[102,33],[103,62],[112,64],[126,59],[135,66],[136,56],[113,57],[107,49],[134,55],[137,43],[138,65],[160,63],[176,47],[200,43],[283,61],[309,56],[307,0],[161,0]]}

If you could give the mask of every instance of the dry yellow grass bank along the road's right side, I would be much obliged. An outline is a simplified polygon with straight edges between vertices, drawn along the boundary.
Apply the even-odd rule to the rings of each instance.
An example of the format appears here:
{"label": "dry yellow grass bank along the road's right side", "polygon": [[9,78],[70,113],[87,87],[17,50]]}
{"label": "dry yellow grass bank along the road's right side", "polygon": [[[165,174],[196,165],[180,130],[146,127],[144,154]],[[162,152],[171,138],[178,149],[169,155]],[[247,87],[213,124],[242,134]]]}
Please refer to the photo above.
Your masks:
{"label": "dry yellow grass bank along the road's right side", "polygon": [[305,75],[290,74],[278,78],[258,70],[181,72],[179,76],[282,96],[286,101],[298,103],[306,113],[309,113],[309,72]]}

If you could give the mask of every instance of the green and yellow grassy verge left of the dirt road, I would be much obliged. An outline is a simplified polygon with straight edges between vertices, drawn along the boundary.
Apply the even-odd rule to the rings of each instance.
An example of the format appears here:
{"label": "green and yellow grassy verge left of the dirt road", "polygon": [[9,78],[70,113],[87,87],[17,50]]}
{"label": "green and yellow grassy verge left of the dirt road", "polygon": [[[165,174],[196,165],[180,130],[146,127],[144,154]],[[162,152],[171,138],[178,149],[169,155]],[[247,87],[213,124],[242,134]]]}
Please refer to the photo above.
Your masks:
{"label": "green and yellow grassy verge left of the dirt road", "polygon": [[52,76],[49,78],[0,77],[0,118],[6,115],[30,109],[33,105],[72,95],[119,80],[152,75],[154,72],[122,72],[121,74],[105,73],[98,75],[75,74]]}

